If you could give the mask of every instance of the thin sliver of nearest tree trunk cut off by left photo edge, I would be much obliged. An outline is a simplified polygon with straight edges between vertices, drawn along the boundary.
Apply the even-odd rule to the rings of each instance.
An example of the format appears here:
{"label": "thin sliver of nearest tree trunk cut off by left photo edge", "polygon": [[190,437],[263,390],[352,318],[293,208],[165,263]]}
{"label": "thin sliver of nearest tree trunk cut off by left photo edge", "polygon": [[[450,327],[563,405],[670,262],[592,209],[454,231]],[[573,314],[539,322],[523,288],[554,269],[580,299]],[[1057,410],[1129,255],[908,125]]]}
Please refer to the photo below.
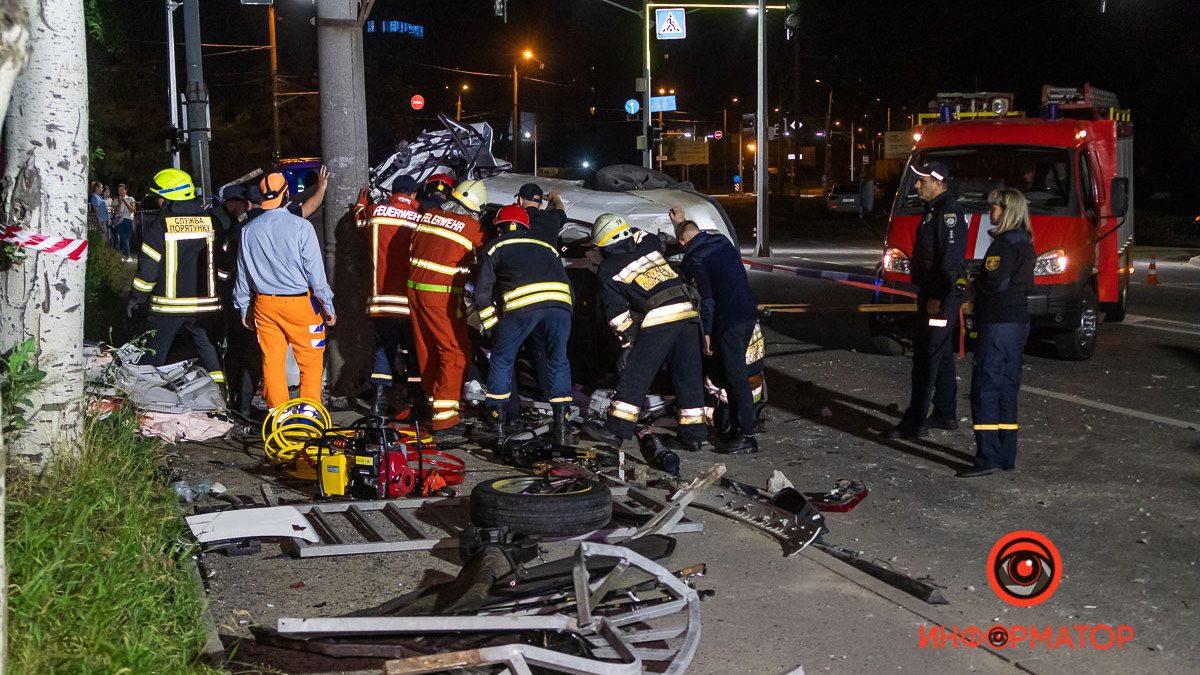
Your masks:
{"label": "thin sliver of nearest tree trunk cut off by left photo edge", "polygon": [[[0,125],[8,112],[12,83],[28,59],[29,14],[18,0],[0,0]],[[2,401],[0,401],[2,404]],[[0,405],[0,408],[4,406]],[[0,673],[8,671],[8,558],[5,504],[8,501],[8,449],[0,436]]]}

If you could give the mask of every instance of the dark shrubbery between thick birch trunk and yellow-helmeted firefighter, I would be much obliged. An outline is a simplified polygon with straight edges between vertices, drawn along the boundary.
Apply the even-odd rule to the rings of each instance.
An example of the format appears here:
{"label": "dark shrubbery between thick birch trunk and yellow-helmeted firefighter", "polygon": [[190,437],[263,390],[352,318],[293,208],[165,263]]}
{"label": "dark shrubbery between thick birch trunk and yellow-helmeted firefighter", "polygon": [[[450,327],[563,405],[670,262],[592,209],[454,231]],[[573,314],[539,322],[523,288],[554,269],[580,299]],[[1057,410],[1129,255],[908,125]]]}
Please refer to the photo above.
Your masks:
{"label": "dark shrubbery between thick birch trunk and yellow-helmeted firefighter", "polygon": [[83,334],[90,340],[124,345],[136,334],[125,318],[133,265],[121,262],[121,253],[108,245],[104,234],[88,237],[88,270],[84,273]]}

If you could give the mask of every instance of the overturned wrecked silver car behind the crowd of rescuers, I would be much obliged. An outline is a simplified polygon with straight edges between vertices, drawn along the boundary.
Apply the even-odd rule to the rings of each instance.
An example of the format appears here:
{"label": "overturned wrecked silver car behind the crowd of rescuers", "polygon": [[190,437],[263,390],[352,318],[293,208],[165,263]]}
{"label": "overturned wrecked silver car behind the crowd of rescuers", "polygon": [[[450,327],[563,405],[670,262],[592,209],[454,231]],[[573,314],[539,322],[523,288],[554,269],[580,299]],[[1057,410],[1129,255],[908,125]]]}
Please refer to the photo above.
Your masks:
{"label": "overturned wrecked silver car behind the crowd of rescuers", "polygon": [[[487,229],[496,211],[514,203],[517,191],[526,183],[536,183],[546,193],[562,195],[568,223],[559,233],[558,250],[575,293],[568,353],[575,382],[589,389],[612,380],[620,356],[599,303],[600,282],[595,273],[600,252],[592,245],[592,223],[600,214],[620,215],[634,227],[658,234],[676,263],[682,251],[668,215],[672,207],[683,208],[702,229],[728,238],[734,246],[738,244],[725,210],[715,199],[692,189],[691,184],[631,165],[601,168],[587,181],[511,173],[508,162],[492,155],[491,126],[486,123],[463,125],[445,115],[439,115],[439,119],[444,130],[426,131],[416,141],[401,143],[396,153],[371,168],[372,201],[383,199],[391,181],[400,175],[418,181],[434,173],[448,173],[457,180],[480,179],[487,186],[487,207],[482,217]],[[521,388],[534,389],[530,369],[521,370]]]}

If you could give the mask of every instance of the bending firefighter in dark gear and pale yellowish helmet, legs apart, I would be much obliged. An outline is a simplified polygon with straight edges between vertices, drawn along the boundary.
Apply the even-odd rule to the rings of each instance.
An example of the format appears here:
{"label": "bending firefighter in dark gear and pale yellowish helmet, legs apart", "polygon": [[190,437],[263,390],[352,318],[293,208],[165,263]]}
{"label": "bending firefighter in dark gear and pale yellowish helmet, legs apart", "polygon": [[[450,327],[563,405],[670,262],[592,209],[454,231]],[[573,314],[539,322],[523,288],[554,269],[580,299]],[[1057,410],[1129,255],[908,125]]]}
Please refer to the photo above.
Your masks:
{"label": "bending firefighter in dark gear and pale yellowish helmet, legs apart", "polygon": [[620,446],[634,435],[646,394],[667,364],[679,407],[679,440],[689,450],[704,448],[704,384],[696,295],[662,255],[658,237],[625,219],[601,214],[592,226],[600,247],[600,293],[608,325],[623,347],[631,346],[617,394],[601,426],[588,423],[588,438]]}

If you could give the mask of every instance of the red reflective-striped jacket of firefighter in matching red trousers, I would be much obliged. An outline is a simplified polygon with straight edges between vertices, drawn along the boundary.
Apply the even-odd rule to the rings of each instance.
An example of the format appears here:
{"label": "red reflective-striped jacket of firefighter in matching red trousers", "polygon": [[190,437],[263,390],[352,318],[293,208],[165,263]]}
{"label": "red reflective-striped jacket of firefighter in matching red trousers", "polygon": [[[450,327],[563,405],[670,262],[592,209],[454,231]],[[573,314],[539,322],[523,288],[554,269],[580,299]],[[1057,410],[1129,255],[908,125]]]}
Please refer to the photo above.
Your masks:
{"label": "red reflective-striped jacket of firefighter in matching red trousers", "polygon": [[482,245],[479,221],[445,209],[430,209],[413,233],[408,287],[434,293],[462,294]]}

